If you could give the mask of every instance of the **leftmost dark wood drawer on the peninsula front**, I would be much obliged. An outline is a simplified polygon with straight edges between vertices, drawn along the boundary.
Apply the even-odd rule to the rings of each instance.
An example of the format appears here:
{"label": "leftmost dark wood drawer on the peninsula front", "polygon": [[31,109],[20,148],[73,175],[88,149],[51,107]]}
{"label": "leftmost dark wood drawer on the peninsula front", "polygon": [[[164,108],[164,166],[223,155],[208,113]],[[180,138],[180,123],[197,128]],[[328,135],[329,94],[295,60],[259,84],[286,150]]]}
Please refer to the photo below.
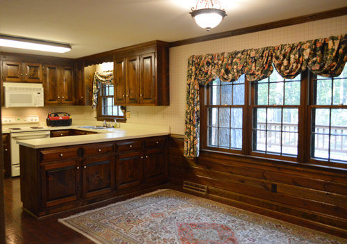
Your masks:
{"label": "leftmost dark wood drawer on the peninsula front", "polygon": [[56,149],[43,149],[40,151],[41,162],[60,161],[78,156],[78,147],[61,147]]}

